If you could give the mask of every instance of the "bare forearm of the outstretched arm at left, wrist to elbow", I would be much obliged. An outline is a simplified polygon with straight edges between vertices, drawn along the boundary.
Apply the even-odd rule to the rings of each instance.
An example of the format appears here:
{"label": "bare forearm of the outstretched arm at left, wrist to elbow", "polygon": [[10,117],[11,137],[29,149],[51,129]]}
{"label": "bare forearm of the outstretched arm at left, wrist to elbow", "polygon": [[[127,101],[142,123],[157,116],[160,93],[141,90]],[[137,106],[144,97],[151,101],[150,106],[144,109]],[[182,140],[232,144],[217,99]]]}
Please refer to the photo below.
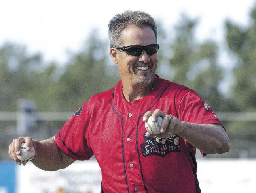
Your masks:
{"label": "bare forearm of the outstretched arm at left, wrist to elbow", "polygon": [[34,146],[36,146],[36,155],[31,162],[36,167],[46,171],[56,171],[63,168],[63,158],[54,137],[44,141],[34,140]]}

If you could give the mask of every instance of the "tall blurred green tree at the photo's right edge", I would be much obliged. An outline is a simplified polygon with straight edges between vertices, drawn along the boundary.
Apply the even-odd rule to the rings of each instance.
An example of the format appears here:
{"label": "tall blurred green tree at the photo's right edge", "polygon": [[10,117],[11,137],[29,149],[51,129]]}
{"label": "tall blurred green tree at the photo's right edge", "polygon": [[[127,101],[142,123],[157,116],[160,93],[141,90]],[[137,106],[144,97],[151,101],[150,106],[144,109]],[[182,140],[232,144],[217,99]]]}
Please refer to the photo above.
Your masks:
{"label": "tall blurred green tree at the photo's right edge", "polygon": [[[250,25],[243,27],[226,20],[226,41],[237,58],[233,69],[232,95],[237,111],[256,111],[256,4],[250,12]],[[233,122],[232,135],[256,139],[255,122]]]}

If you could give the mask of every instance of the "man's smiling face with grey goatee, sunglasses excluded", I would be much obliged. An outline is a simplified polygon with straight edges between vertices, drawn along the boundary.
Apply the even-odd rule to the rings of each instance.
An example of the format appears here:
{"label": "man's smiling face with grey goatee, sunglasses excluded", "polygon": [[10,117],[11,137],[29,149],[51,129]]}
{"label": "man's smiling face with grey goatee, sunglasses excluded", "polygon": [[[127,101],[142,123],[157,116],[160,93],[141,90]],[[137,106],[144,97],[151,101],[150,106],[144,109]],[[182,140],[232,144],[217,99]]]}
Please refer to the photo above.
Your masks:
{"label": "man's smiling face with grey goatee, sunglasses excluded", "polygon": [[[155,44],[155,34],[150,27],[138,28],[130,26],[123,30],[120,46]],[[144,51],[140,56],[127,55],[123,51],[111,48],[110,54],[114,63],[118,64],[121,80],[131,84],[149,84],[154,80],[157,68],[157,54],[149,56]]]}

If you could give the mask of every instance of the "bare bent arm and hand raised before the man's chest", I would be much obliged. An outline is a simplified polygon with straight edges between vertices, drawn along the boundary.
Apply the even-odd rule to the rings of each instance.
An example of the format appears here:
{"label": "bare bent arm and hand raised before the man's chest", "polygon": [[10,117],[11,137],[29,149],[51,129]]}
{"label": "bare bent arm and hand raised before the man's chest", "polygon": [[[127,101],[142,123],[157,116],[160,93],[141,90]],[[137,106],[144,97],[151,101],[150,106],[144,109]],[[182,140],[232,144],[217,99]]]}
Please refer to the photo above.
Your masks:
{"label": "bare bent arm and hand raised before the man's chest", "polygon": [[143,121],[147,121],[151,115],[155,118],[158,116],[164,118],[161,125],[161,133],[151,135],[147,132],[147,137],[169,137],[175,134],[207,154],[225,153],[230,150],[228,135],[219,124],[204,125],[183,122],[173,115],[163,113],[159,109],[156,109],[154,113],[151,111],[145,113]]}

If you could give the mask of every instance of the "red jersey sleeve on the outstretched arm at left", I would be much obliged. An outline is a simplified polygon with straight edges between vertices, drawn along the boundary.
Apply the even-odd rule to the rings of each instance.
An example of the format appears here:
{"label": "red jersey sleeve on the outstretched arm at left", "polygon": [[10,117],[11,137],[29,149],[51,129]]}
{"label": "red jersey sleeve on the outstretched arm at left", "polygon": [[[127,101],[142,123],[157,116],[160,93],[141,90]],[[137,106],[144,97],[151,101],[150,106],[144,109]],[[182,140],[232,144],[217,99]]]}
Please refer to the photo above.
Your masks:
{"label": "red jersey sleeve on the outstretched arm at left", "polygon": [[89,160],[93,151],[89,146],[89,102],[85,102],[55,135],[55,143],[74,160]]}

